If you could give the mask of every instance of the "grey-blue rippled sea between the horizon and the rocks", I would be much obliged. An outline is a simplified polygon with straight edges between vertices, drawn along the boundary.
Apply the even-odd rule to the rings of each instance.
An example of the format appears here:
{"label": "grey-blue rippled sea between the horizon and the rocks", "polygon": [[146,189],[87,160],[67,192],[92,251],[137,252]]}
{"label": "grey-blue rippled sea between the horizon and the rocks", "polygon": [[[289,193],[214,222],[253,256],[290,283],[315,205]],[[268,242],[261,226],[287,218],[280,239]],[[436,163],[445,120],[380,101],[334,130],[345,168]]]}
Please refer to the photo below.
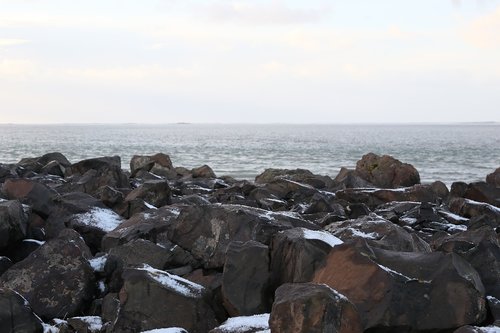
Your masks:
{"label": "grey-blue rippled sea between the horizon and the rocks", "polygon": [[266,168],[335,177],[368,152],[413,164],[423,183],[479,181],[500,167],[500,125],[0,125],[0,163],[59,151],[71,162],[163,152],[174,166],[208,164],[253,179]]}

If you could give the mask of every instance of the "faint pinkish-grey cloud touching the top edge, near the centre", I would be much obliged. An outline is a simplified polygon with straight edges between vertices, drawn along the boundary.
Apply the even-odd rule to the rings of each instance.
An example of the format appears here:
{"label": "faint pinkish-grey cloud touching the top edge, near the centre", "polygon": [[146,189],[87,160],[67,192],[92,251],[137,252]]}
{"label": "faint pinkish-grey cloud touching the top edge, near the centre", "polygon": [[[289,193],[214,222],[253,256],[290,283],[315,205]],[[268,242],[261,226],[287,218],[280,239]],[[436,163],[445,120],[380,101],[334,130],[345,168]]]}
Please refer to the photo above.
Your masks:
{"label": "faint pinkish-grey cloud touching the top edge, near the centre", "polygon": [[291,8],[282,1],[270,4],[249,2],[217,2],[198,9],[216,22],[242,23],[249,25],[281,25],[317,23],[327,17],[328,6],[320,8]]}

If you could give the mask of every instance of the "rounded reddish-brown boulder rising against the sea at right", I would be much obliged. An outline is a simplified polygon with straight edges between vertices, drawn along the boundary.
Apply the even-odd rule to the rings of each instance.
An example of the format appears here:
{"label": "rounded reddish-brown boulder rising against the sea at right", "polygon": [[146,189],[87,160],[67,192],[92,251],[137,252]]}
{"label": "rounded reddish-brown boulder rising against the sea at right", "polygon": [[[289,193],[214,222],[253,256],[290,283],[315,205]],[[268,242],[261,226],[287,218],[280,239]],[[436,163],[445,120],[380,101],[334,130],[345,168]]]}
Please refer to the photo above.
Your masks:
{"label": "rounded reddish-brown boulder rising against the sea at right", "polygon": [[356,163],[356,173],[377,187],[396,188],[420,184],[420,175],[411,164],[389,155],[364,155]]}

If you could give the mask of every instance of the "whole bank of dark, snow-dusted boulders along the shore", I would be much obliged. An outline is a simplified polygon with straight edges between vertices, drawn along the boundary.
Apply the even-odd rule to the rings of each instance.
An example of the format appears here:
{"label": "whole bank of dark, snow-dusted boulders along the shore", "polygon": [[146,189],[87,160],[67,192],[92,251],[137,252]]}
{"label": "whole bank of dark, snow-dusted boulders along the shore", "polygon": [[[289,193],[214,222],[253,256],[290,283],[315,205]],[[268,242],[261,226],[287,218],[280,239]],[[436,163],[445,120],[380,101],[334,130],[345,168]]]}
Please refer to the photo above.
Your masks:
{"label": "whole bank of dark, snow-dusted boulders along the shore", "polygon": [[[0,332],[497,332],[500,168],[0,164]],[[161,329],[161,330],[158,330]]]}

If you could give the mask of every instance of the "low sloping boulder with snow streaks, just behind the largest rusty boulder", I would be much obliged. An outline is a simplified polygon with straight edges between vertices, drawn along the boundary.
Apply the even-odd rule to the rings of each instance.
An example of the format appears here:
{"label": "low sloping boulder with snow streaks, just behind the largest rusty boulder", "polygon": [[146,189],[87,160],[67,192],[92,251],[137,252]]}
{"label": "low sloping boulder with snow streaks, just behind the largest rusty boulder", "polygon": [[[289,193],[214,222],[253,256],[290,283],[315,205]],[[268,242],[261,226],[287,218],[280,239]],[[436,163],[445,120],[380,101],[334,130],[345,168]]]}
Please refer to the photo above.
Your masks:
{"label": "low sloping boulder with snow streaks, just behind the largest rusty boulder", "polygon": [[371,213],[354,220],[332,223],[325,230],[344,242],[364,239],[373,247],[402,252],[431,252],[429,244],[402,227]]}

